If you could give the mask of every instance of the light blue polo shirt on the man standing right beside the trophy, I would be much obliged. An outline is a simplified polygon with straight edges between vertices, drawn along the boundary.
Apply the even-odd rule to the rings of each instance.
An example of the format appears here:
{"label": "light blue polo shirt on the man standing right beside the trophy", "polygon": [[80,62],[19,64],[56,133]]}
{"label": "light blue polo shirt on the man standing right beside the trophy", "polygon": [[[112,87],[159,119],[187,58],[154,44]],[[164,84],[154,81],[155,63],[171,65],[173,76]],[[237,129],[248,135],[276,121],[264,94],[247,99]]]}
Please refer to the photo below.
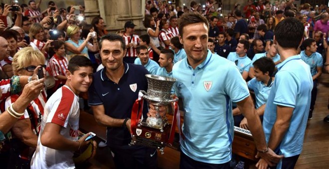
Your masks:
{"label": "light blue polo shirt on the man standing right beside the trophy", "polygon": [[184,105],[181,151],[195,161],[223,164],[231,160],[232,101],[249,96],[246,82],[235,64],[208,50],[194,70],[187,58],[172,69],[174,89]]}

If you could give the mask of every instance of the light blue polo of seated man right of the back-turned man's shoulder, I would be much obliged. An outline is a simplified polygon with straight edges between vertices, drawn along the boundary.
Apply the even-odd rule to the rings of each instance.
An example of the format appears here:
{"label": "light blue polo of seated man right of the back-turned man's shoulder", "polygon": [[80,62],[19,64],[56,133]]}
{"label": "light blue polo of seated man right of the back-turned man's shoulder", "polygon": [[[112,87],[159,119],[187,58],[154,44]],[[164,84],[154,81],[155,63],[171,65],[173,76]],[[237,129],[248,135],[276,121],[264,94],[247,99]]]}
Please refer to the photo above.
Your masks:
{"label": "light blue polo of seated man right of the back-turned man's shoulder", "polygon": [[323,66],[323,59],[320,53],[315,52],[311,56],[307,56],[305,51],[301,52],[302,60],[311,67],[311,75],[314,76],[318,73],[317,67]]}

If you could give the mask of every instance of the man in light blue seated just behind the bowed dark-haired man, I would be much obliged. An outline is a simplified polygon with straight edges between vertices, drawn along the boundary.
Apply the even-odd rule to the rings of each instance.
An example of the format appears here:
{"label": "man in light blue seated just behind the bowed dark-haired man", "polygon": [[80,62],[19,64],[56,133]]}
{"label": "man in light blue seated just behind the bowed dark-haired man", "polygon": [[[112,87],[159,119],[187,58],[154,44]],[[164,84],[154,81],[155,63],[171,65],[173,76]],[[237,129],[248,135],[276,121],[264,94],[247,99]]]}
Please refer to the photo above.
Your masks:
{"label": "man in light blue seated just behind the bowed dark-haired man", "polygon": [[[270,44],[270,49],[268,52],[265,52],[265,53],[258,53],[254,56],[254,58],[252,58],[252,61],[251,61],[251,65],[250,65],[250,70],[249,70],[249,77],[250,78],[254,78],[254,66],[253,66],[253,63],[258,60],[259,58],[262,58],[262,57],[268,57],[268,58],[271,58],[275,64],[275,66],[277,67],[278,64],[281,63],[280,61],[280,55],[278,54],[277,50],[275,49],[275,44],[273,44],[273,42],[271,42]],[[272,76],[272,75],[270,75]]]}

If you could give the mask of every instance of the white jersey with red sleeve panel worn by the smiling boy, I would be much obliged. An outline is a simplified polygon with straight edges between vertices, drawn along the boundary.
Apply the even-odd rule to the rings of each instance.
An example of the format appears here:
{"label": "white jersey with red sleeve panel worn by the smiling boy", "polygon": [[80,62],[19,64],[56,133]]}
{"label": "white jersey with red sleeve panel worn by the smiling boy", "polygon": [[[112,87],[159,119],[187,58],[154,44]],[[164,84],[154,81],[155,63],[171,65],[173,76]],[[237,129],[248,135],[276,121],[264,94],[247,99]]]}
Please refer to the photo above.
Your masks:
{"label": "white jersey with red sleeve panel worn by the smiling boy", "polygon": [[78,140],[79,129],[79,97],[66,85],[51,95],[44,107],[41,132],[38,144],[31,159],[31,169],[73,169],[73,152],[60,151],[45,147],[40,138],[46,123],[54,123],[61,127],[60,135],[68,140]]}

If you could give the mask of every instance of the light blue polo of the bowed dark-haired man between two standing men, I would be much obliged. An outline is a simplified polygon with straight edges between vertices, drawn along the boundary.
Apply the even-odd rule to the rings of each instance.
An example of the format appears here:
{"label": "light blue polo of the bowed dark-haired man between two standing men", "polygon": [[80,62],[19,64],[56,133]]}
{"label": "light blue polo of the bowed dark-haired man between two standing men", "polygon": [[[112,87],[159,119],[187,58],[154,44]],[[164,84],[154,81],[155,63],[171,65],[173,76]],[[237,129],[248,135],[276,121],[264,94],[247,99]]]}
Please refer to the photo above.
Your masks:
{"label": "light blue polo of the bowed dark-haired man between two standing men", "polygon": [[272,81],[271,84],[267,86],[263,82],[257,81],[256,78],[253,78],[247,82],[248,88],[254,90],[255,92],[256,108],[259,108],[261,105],[266,103],[273,83],[274,82]]}

